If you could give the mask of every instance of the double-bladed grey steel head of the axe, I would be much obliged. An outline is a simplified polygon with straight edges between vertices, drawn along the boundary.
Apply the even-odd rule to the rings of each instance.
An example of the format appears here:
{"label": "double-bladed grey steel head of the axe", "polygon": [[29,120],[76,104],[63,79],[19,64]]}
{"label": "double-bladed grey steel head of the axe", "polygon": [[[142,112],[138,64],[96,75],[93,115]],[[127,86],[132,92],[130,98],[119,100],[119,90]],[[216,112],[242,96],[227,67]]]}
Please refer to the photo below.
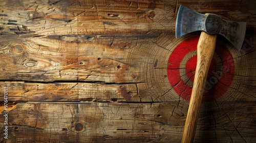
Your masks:
{"label": "double-bladed grey steel head of the axe", "polygon": [[184,6],[180,6],[176,20],[176,38],[194,31],[224,36],[238,50],[241,49],[246,22],[224,20],[212,14],[200,14]]}

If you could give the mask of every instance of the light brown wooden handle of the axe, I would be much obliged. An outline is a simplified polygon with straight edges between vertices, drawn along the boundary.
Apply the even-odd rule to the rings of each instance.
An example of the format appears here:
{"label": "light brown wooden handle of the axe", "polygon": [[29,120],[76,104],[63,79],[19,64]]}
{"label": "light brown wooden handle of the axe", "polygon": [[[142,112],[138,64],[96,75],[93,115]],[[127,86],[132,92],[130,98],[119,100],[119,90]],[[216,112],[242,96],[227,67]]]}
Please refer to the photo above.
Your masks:
{"label": "light brown wooden handle of the axe", "polygon": [[183,143],[194,141],[206,78],[215,51],[216,38],[217,35],[208,35],[202,32],[198,41],[197,67],[181,141]]}

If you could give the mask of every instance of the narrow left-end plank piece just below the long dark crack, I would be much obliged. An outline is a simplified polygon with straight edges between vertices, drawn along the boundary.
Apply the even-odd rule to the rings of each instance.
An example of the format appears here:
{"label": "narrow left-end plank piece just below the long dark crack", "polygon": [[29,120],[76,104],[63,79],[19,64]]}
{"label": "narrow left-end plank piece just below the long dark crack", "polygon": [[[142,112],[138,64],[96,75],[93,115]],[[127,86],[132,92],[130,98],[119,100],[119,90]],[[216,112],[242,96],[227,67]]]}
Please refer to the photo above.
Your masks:
{"label": "narrow left-end plank piece just below the long dark crack", "polygon": [[[78,101],[77,83],[33,83],[33,82],[2,82],[1,93],[8,88],[8,101]],[[1,97],[4,101],[4,97]]]}

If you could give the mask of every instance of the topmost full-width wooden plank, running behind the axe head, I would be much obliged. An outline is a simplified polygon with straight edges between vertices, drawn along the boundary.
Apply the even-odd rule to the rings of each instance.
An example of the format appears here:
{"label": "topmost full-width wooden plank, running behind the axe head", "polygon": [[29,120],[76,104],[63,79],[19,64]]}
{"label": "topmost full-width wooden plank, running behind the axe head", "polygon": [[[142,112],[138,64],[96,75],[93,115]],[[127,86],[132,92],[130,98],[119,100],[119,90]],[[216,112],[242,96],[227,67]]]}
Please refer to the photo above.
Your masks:
{"label": "topmost full-width wooden plank, running behind the axe head", "polygon": [[255,33],[254,1],[19,0],[0,4],[1,35],[159,35],[175,33],[180,4],[201,13],[247,22]]}

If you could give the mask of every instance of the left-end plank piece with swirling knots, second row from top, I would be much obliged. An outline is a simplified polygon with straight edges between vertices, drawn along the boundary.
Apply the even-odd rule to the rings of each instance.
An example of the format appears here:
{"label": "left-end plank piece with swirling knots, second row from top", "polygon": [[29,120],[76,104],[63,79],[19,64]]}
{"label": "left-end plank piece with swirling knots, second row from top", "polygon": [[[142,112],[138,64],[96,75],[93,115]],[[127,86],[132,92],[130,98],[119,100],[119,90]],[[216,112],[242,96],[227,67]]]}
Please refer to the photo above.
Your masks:
{"label": "left-end plank piece with swirling knots, second row from top", "polygon": [[2,80],[77,79],[77,46],[39,37],[1,37]]}

